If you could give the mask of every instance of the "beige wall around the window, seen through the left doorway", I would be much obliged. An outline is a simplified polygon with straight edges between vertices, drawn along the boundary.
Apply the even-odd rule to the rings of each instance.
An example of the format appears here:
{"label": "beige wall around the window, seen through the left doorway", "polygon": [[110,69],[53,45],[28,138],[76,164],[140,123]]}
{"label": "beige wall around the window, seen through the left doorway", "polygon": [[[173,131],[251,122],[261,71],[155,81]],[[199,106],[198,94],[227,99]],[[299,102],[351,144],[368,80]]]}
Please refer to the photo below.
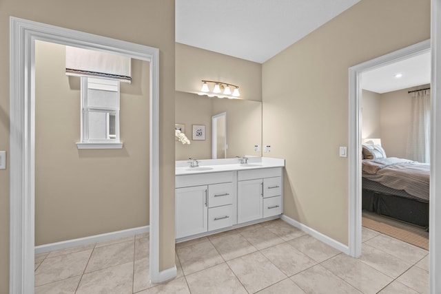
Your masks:
{"label": "beige wall around the window, seen through the left doorway", "polygon": [[35,50],[35,244],[149,224],[150,65],[132,59],[121,83],[123,149],[77,149],[80,78],[65,75],[65,46]]}

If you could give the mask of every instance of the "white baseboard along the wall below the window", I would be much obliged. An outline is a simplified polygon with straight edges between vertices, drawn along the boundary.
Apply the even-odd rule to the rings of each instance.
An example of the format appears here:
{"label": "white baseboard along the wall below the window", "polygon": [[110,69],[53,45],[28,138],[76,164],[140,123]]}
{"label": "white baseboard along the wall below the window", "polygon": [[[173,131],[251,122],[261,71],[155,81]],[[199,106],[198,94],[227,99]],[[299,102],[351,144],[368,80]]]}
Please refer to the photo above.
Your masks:
{"label": "white baseboard along the wall below the window", "polygon": [[133,228],[133,229],[126,229],[126,230],[122,230],[122,231],[103,233],[103,234],[99,234],[99,235],[91,235],[91,236],[84,237],[84,238],[78,238],[78,239],[72,239],[72,240],[66,240],[66,241],[61,241],[61,242],[55,242],[55,243],[35,246],[34,252],[35,252],[35,254],[45,253],[48,251],[65,249],[65,248],[74,247],[74,246],[88,245],[88,244],[93,244],[96,242],[103,242],[103,241],[107,241],[107,240],[125,238],[125,237],[130,237],[132,235],[138,235],[141,233],[149,233],[149,232],[150,232],[150,226],[145,226],[145,227],[137,227],[137,228]]}

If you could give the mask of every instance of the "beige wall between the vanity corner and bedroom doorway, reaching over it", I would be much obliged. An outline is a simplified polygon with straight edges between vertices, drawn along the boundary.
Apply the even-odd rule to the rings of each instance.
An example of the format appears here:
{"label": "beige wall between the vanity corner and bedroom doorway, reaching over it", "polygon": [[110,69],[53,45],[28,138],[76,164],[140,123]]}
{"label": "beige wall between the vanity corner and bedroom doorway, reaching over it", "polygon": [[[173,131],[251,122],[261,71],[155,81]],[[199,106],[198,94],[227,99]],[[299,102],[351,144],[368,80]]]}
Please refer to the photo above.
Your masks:
{"label": "beige wall between the vanity corner and bedroom doorway, reaching over it", "polygon": [[263,144],[286,159],[287,216],[348,244],[348,68],[429,37],[429,0],[362,0],[263,64]]}

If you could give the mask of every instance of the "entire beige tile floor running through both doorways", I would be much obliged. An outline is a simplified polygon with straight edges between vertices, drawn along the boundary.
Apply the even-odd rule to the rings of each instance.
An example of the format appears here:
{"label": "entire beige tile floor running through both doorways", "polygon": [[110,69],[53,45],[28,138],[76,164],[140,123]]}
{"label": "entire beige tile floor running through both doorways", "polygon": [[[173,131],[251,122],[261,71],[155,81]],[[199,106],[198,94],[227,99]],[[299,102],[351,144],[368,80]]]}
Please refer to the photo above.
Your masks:
{"label": "entire beige tile floor running through both doorways", "polygon": [[177,277],[150,284],[149,235],[35,256],[35,293],[429,293],[428,251],[362,229],[350,258],[283,220],[176,244]]}

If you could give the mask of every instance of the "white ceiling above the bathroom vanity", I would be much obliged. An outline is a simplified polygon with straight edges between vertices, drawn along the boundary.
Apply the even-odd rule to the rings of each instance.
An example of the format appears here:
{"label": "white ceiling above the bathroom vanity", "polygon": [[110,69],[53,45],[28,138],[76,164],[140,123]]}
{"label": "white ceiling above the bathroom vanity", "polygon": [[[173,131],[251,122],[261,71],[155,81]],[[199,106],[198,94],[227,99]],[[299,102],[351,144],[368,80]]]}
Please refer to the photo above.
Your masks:
{"label": "white ceiling above the bathroom vanity", "polygon": [[176,42],[264,63],[360,0],[176,0]]}

